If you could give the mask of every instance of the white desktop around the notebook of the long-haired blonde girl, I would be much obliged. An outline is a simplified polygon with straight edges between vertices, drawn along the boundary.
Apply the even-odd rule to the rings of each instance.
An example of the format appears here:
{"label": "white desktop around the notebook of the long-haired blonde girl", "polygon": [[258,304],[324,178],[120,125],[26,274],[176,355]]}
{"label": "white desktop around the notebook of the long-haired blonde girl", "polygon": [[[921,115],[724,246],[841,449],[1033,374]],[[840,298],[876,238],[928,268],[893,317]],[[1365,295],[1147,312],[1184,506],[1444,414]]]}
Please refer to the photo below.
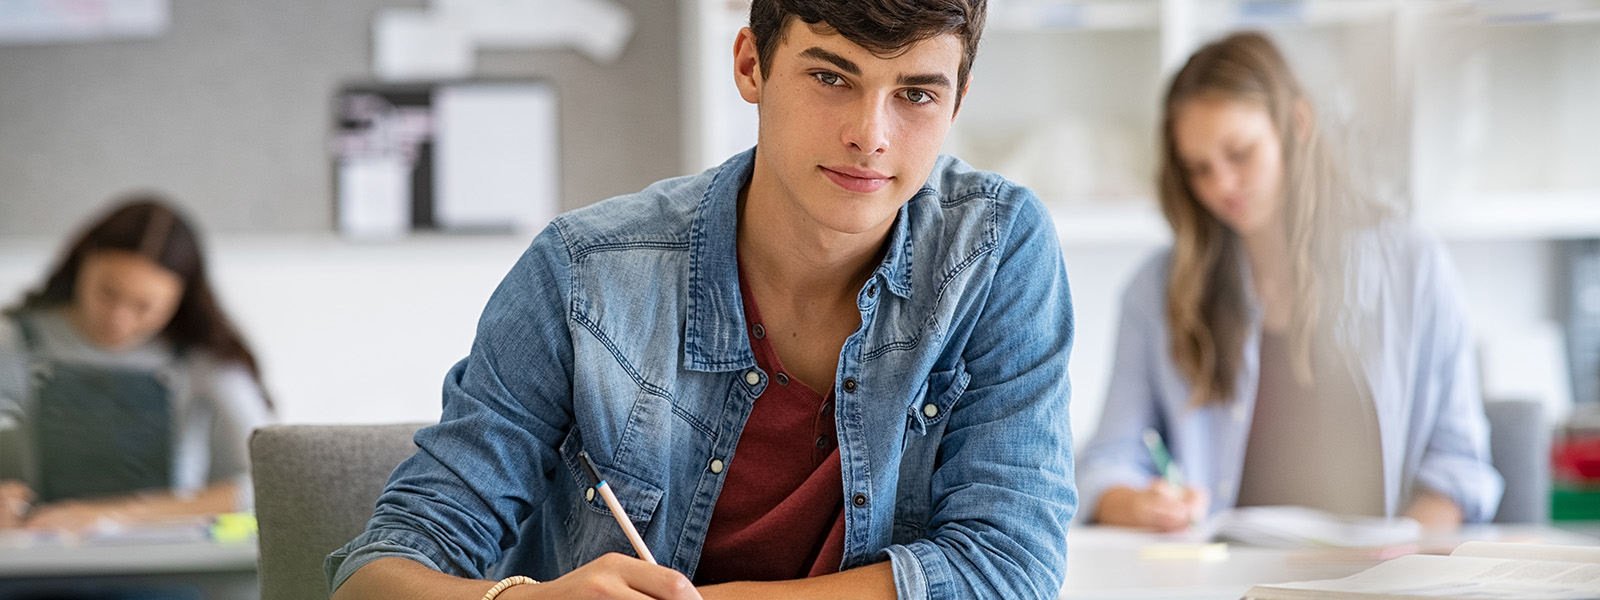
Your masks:
{"label": "white desktop around the notebook of the long-haired blonde girl", "polygon": [[[1336,579],[1392,557],[1376,550],[1282,550],[1229,544],[1227,558],[1141,558],[1141,549],[1174,538],[1112,526],[1075,526],[1067,533],[1067,579],[1062,600],[1173,598],[1235,600],[1256,584]],[[1600,539],[1544,525],[1475,525],[1429,534],[1422,552],[1448,554],[1466,541],[1530,541],[1600,546]]]}

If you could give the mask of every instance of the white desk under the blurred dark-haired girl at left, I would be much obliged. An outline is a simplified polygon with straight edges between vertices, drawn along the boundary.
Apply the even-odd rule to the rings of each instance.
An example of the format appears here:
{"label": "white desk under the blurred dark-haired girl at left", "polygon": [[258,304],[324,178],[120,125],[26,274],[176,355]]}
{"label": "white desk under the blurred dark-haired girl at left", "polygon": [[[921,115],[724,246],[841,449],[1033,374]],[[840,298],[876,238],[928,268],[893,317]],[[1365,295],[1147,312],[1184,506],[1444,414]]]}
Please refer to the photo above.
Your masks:
{"label": "white desk under the blurred dark-haired girl at left", "polygon": [[118,589],[181,590],[173,597],[259,597],[256,542],[0,538],[0,598]]}

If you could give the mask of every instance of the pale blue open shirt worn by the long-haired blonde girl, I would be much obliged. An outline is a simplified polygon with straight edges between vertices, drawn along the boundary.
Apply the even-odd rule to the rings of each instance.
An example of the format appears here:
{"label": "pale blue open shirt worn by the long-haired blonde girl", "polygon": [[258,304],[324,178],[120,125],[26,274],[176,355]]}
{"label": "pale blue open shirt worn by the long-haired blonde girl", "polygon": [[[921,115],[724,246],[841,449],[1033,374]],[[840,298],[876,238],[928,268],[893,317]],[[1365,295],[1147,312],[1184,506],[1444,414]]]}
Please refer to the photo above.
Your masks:
{"label": "pale blue open shirt worn by the long-haired blonde girl", "polygon": [[[1467,522],[1490,520],[1502,482],[1490,466],[1467,307],[1445,246],[1392,221],[1352,234],[1346,259],[1334,338],[1362,371],[1357,381],[1378,414],[1386,514],[1403,514],[1422,486],[1454,501]],[[1251,325],[1234,398],[1192,406],[1171,358],[1168,264],[1170,251],[1157,254],[1123,293],[1106,408],[1078,462],[1085,518],[1107,490],[1144,488],[1155,477],[1141,438],[1146,427],[1162,434],[1189,485],[1210,491],[1211,512],[1232,509],[1238,494],[1261,378],[1261,310],[1250,269]]]}

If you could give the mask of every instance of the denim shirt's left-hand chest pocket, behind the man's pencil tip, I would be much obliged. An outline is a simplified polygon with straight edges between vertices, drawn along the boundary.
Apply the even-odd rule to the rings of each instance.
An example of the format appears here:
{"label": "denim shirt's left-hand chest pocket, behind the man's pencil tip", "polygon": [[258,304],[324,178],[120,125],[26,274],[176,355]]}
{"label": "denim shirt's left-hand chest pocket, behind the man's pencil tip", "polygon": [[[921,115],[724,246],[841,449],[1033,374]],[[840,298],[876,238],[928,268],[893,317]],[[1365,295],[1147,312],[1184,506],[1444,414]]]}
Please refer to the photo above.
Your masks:
{"label": "denim shirt's left-hand chest pocket, behind the man's pencil tip", "polygon": [[[574,565],[589,563],[606,552],[634,555],[634,546],[616,523],[616,517],[611,515],[611,507],[605,504],[605,498],[595,491],[589,482],[589,475],[578,464],[576,456],[579,448],[568,446],[563,445],[562,453],[568,458],[566,470],[573,477],[573,482],[576,482],[578,498],[570,504],[571,509],[566,514],[565,525],[568,536],[566,547],[571,552]],[[568,450],[571,453],[566,453]],[[634,528],[638,530],[640,536],[648,539],[650,522],[654,518],[656,507],[661,506],[662,490],[600,462],[595,462],[595,469],[605,478],[611,493],[616,494],[618,504],[622,504],[627,520],[634,522]]]}

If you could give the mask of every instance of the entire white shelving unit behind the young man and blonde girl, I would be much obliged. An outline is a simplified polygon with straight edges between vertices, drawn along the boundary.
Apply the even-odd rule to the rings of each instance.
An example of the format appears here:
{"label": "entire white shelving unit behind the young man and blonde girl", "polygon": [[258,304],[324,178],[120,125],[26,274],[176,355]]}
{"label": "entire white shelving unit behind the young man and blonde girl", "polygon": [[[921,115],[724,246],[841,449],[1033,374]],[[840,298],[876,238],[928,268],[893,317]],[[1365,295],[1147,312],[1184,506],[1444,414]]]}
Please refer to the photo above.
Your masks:
{"label": "entire white shelving unit behind the young man and blonde girl", "polygon": [[[747,0],[685,0],[688,168],[755,141]],[[1266,30],[1323,131],[1446,238],[1600,237],[1600,0],[990,0],[946,152],[1032,187],[1062,243],[1158,243],[1158,102],[1205,40]]]}

